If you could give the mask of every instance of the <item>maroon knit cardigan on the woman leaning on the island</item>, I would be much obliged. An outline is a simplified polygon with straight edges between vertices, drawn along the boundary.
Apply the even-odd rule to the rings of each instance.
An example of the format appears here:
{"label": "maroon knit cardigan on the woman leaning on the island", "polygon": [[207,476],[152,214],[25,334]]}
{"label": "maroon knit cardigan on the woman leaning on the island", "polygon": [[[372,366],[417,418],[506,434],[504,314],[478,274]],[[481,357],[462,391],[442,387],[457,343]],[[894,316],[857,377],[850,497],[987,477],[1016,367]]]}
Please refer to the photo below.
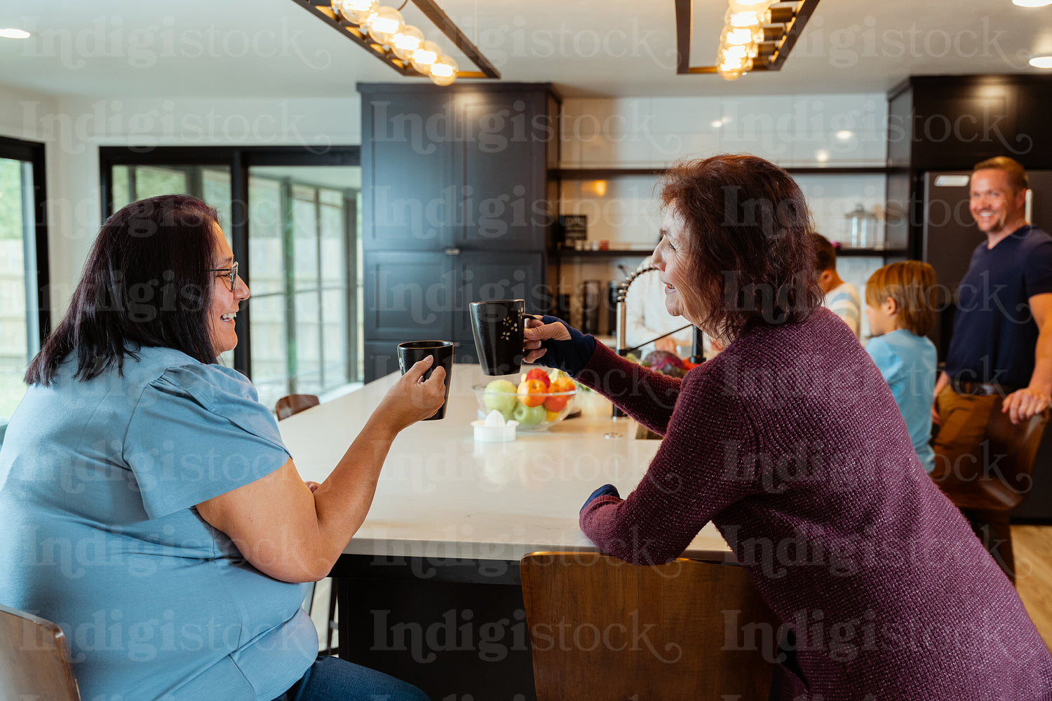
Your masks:
{"label": "maroon knit cardigan on the woman leaning on the island", "polygon": [[1023,602],[833,313],[748,329],[682,380],[602,345],[578,378],[665,436],[628,498],[595,499],[582,531],[646,564],[715,523],[795,634],[803,679],[783,698],[803,683],[813,701],[1052,699]]}

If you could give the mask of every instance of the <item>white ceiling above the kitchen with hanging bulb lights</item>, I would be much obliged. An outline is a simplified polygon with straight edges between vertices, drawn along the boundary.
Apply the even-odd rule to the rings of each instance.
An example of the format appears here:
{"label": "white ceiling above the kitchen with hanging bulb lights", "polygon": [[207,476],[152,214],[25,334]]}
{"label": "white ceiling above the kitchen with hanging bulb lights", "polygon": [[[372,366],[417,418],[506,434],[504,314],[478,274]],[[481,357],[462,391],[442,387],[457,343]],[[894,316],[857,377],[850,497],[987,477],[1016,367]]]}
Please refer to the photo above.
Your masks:
{"label": "white ceiling above the kitchen with hanging bulb lights", "polygon": [[[785,67],[675,75],[672,0],[438,0],[504,81],[564,97],[884,92],[909,75],[1039,73],[1052,6],[822,0]],[[713,62],[726,0],[694,0],[691,65]],[[473,69],[410,3],[407,21]],[[291,0],[0,0],[0,84],[90,97],[332,97],[408,81]],[[418,79],[419,80],[419,79]],[[2,88],[0,88],[2,94]]]}

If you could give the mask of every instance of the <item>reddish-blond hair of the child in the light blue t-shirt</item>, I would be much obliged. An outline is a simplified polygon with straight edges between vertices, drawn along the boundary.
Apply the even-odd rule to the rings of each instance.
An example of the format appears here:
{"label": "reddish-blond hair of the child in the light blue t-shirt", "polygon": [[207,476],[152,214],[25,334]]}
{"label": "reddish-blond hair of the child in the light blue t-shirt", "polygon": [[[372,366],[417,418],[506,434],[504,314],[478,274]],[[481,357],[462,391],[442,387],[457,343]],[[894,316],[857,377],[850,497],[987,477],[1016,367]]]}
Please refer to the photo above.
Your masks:
{"label": "reddish-blond hair of the child in the light blue t-shirt", "polygon": [[935,325],[934,289],[935,269],[927,263],[889,263],[866,281],[866,304],[878,307],[891,297],[898,327],[923,336]]}

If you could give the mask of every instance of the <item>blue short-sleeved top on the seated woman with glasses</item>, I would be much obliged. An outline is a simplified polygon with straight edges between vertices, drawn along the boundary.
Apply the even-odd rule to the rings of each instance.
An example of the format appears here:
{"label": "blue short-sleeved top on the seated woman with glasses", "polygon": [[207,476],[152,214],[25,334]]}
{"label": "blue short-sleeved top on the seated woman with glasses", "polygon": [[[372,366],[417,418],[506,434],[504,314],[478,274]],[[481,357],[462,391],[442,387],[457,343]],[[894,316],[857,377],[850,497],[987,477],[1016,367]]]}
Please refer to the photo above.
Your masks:
{"label": "blue short-sleeved top on the seated woman with glasses", "polygon": [[195,504],[288,459],[251,384],[143,348],[29,387],[0,449],[0,603],[58,623],[85,701],[270,701],[310,666],[306,584],[252,568]]}

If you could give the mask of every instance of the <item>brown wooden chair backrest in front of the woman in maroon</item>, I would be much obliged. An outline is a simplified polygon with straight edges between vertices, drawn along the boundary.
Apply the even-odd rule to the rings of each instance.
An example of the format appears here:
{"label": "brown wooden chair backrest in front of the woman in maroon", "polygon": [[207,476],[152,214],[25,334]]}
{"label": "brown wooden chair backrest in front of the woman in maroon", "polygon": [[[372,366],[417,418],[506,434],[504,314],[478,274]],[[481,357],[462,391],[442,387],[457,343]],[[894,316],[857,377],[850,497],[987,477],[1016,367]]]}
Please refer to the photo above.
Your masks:
{"label": "brown wooden chair backrest in front of the woman in maroon", "polygon": [[520,562],[538,701],[767,701],[778,621],[740,566]]}

